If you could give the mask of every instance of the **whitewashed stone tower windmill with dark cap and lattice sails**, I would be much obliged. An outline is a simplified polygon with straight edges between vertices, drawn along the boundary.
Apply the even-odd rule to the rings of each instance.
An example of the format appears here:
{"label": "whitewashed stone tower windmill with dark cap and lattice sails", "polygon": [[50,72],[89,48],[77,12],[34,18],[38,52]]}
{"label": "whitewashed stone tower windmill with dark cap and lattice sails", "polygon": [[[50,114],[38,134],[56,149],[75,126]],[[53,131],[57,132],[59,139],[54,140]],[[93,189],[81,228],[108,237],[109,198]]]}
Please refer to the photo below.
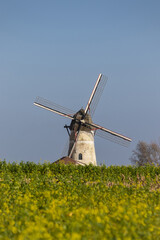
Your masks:
{"label": "whitewashed stone tower windmill with dark cap and lattice sails", "polygon": [[38,107],[57,113],[71,119],[69,126],[65,125],[69,134],[68,157],[77,163],[97,165],[94,136],[100,136],[118,144],[127,146],[131,139],[92,122],[95,109],[106,85],[107,77],[99,74],[85,109],[74,111],[37,97],[34,104]]}

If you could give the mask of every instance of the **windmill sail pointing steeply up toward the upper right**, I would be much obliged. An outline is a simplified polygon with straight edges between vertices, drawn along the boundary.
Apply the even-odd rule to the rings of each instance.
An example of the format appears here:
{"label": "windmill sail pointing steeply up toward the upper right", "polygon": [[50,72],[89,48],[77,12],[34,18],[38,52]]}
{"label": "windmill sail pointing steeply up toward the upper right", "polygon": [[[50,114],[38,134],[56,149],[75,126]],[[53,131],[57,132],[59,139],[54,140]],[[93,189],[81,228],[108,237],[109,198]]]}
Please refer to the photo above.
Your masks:
{"label": "windmill sail pointing steeply up toward the upper right", "polygon": [[99,74],[85,109],[85,113],[89,112],[91,117],[93,117],[94,115],[94,112],[96,110],[96,107],[98,105],[98,102],[103,93],[106,83],[107,83],[107,77],[105,75]]}

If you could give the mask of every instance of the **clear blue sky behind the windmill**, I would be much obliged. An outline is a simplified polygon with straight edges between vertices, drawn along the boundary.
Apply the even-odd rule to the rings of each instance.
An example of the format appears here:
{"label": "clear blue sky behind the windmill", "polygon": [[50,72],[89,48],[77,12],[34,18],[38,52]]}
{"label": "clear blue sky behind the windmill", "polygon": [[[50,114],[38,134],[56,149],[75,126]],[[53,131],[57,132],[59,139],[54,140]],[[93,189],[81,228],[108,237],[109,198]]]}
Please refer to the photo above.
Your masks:
{"label": "clear blue sky behind the windmill", "polygon": [[37,95],[75,111],[99,73],[108,82],[93,121],[132,138],[95,138],[98,163],[129,165],[138,141],[160,142],[160,1],[0,1],[0,158],[53,162],[68,119]]}

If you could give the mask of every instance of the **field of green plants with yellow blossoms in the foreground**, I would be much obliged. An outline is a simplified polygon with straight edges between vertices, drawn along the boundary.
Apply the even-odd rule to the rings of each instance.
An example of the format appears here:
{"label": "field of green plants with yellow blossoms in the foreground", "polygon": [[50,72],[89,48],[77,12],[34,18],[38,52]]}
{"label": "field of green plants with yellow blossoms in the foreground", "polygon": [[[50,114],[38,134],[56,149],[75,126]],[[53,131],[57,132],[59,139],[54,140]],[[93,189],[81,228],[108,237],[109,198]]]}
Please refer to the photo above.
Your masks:
{"label": "field of green plants with yellow blossoms in the foreground", "polygon": [[0,162],[0,239],[160,239],[160,168]]}

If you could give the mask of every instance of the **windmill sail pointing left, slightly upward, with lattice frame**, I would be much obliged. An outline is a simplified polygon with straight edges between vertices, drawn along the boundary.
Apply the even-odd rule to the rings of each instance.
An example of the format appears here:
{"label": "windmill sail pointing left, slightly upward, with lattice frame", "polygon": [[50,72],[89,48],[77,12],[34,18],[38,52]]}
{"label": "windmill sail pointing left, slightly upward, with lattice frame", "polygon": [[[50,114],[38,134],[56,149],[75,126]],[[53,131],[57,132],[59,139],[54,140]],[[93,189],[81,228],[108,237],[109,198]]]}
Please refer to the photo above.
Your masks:
{"label": "windmill sail pointing left, slightly upward, with lattice frame", "polygon": [[74,119],[73,118],[73,115],[75,113],[74,111],[72,111],[68,108],[62,107],[56,103],[50,102],[42,97],[37,97],[34,102],[34,105],[44,108],[46,110],[49,110],[51,112],[57,113],[63,117]]}

